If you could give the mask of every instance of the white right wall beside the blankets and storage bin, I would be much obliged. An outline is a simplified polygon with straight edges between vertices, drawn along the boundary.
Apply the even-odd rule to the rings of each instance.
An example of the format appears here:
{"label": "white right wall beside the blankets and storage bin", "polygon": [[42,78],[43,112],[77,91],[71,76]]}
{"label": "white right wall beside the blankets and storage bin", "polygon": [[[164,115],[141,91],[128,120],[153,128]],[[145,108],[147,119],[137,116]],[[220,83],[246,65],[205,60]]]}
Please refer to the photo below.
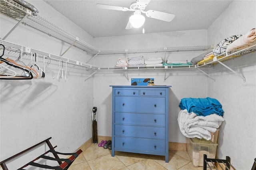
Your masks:
{"label": "white right wall beside the blankets and storage bin", "polygon": [[[247,33],[256,26],[256,1],[234,0],[208,28],[208,44]],[[208,80],[208,96],[218,98],[225,111],[218,137],[218,158],[230,156],[237,170],[251,169],[256,157],[256,53],[225,61],[246,78],[218,64],[210,70],[216,82]]]}

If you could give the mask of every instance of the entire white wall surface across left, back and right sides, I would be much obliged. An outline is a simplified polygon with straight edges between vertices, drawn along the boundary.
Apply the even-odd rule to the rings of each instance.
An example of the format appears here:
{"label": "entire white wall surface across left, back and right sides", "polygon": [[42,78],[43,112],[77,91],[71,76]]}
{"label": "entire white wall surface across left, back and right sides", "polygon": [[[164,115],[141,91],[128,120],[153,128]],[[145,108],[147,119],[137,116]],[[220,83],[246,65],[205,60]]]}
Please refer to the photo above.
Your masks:
{"label": "entire white wall surface across left, back and right sides", "polygon": [[[38,8],[40,16],[100,50],[216,45],[222,39],[237,33],[246,33],[256,25],[256,2],[235,0],[208,30],[93,39],[45,2],[28,2]],[[0,37],[4,37],[15,24],[16,21],[1,15]],[[6,41],[56,55],[60,55],[69,47],[66,43],[25,25],[15,29]],[[166,59],[190,61],[201,53],[203,52],[170,52],[166,54]],[[144,55],[145,59],[164,57],[164,53],[128,56],[137,55]],[[64,57],[82,62],[90,59],[90,56],[76,48],[71,48]],[[114,66],[119,57],[125,55],[100,55],[90,63],[102,67]],[[225,122],[218,139],[217,156],[218,158],[230,156],[236,169],[250,169],[256,154],[253,143],[256,121],[255,53],[226,61],[225,64],[243,74],[246,82],[220,65],[216,65],[214,69],[204,69],[216,78],[216,82],[196,69],[168,69],[166,80],[164,80],[165,70],[128,70],[128,79],[126,72],[121,70],[98,71],[93,78],[84,82],[90,74],[80,67],[75,67],[68,73],[67,82],[64,80],[58,82],[47,74],[46,78],[41,80],[0,80],[0,160],[50,136],[53,137],[51,139],[53,145],[58,145],[59,151],[74,151],[92,136],[93,106],[98,107],[98,135],[111,136],[112,89],[109,85],[130,85],[130,78],[152,77],[155,78],[155,84],[172,86],[169,95],[170,142],[186,143],[186,138],[180,133],[177,123],[180,99],[207,96],[216,98],[225,111]],[[51,68],[57,76],[58,62],[52,62]]]}

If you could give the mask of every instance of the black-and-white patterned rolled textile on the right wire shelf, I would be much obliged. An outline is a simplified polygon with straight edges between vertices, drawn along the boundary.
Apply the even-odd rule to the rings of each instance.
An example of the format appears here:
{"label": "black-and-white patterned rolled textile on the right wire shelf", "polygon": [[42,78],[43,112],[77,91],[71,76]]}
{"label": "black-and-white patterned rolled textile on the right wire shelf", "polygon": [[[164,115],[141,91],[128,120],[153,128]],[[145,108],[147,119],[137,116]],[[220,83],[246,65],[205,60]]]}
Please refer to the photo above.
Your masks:
{"label": "black-and-white patterned rolled textile on the right wire shelf", "polygon": [[222,41],[220,41],[220,43],[218,43],[218,45],[216,45],[216,47],[214,47],[212,51],[213,55],[218,56],[218,55],[221,55],[222,53],[225,53],[228,45],[230,45],[233,41],[235,41],[240,37],[242,37],[242,35],[233,35],[223,39]]}

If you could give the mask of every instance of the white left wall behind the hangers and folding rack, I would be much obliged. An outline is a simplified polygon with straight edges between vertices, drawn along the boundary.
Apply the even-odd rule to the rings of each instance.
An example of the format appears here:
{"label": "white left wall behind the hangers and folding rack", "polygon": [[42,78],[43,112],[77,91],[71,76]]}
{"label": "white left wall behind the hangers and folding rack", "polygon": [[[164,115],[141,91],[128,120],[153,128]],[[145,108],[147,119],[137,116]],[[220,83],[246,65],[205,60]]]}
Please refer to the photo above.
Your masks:
{"label": "white left wall behind the hangers and folding rack", "polygon": [[[93,45],[92,36],[44,1],[28,2],[38,8],[41,17]],[[0,37],[3,38],[16,23],[17,21],[1,14]],[[23,24],[20,24],[5,40],[55,55],[60,55],[69,47],[68,44]],[[16,59],[18,54],[13,53],[11,57]],[[84,63],[91,58],[75,47],[72,47],[63,57]],[[43,66],[42,59],[38,64]],[[68,70],[71,66],[68,65]],[[52,61],[50,68],[54,70],[57,77],[59,63]],[[65,70],[64,65],[64,72]],[[58,145],[56,150],[60,152],[73,152],[90,139],[92,137],[93,81],[89,78],[84,82],[89,75],[85,68],[76,66],[68,72],[66,82],[65,79],[60,82],[56,78],[52,79],[49,73],[46,73],[44,79],[39,80],[0,80],[0,160],[48,137],[52,137],[50,140],[52,145]],[[41,149],[43,151],[38,150],[40,154],[47,147]],[[33,159],[35,155],[32,155]],[[10,165],[10,169],[20,168],[18,163],[24,164],[26,161],[14,162],[16,164]]]}

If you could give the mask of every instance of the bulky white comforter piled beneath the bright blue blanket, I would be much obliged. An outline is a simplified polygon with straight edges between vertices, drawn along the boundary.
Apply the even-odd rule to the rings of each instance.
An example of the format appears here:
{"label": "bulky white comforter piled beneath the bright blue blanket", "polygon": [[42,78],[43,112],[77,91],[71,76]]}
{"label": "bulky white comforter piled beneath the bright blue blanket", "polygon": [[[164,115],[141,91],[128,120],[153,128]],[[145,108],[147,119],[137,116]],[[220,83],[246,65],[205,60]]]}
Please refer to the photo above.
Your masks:
{"label": "bulky white comforter piled beneath the bright blue blanket", "polygon": [[188,137],[210,140],[211,132],[216,132],[224,121],[223,117],[217,114],[198,116],[196,113],[188,113],[187,109],[181,110],[178,114],[178,124],[181,133]]}

